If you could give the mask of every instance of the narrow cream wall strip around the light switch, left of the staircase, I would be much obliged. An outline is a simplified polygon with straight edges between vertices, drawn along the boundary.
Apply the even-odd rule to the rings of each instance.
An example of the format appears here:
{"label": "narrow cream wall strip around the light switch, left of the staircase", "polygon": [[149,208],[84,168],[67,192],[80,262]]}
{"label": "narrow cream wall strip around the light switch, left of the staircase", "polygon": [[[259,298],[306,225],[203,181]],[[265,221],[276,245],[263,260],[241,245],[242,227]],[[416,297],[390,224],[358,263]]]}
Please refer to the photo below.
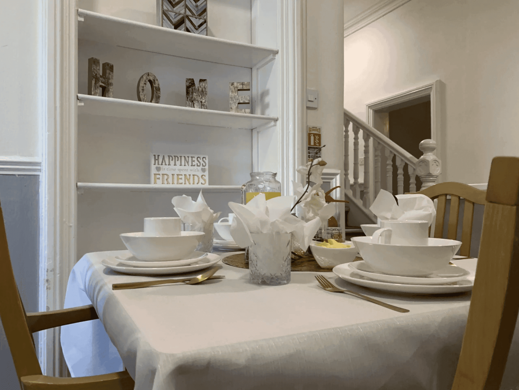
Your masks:
{"label": "narrow cream wall strip around the light switch, left of the staircase", "polygon": [[306,110],[307,125],[321,127],[326,168],[342,170],[344,3],[308,0],[306,7],[306,83],[319,91],[319,108]]}

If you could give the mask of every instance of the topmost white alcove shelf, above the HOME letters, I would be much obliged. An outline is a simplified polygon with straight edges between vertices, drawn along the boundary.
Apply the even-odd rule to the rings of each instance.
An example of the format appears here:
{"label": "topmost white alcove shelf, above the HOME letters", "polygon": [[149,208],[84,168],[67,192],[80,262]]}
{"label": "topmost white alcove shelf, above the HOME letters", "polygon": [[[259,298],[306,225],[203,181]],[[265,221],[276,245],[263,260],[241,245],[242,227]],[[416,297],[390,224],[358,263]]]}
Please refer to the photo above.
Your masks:
{"label": "topmost white alcove shelf, above the HOME letters", "polygon": [[176,31],[78,9],[79,39],[170,56],[253,68],[278,49]]}

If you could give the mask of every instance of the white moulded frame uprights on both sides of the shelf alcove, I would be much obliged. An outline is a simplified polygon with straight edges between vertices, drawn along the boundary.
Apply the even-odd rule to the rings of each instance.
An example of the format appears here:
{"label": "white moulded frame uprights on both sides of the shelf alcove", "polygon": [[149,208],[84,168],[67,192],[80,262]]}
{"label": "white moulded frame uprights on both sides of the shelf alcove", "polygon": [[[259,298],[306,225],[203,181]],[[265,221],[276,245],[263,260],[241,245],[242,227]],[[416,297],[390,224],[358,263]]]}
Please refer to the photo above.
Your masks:
{"label": "white moulded frame uprights on both sides of the shelf alcove", "polygon": [[[280,87],[278,137],[283,191],[292,193],[303,163],[303,42],[306,0],[278,1]],[[63,308],[76,263],[77,0],[39,3],[40,182],[39,311]],[[40,332],[39,360],[46,375],[65,376],[60,331]]]}

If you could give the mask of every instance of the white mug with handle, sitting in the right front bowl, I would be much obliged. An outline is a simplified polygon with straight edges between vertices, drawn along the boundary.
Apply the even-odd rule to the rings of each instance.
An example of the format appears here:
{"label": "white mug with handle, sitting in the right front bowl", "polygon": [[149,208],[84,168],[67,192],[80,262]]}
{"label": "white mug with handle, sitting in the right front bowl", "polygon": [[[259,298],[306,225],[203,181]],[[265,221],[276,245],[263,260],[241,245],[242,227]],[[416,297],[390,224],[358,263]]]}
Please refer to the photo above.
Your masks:
{"label": "white mug with handle, sitting in the right front bowl", "polygon": [[429,222],[427,221],[386,220],[380,221],[380,227],[372,235],[374,244],[428,245]]}

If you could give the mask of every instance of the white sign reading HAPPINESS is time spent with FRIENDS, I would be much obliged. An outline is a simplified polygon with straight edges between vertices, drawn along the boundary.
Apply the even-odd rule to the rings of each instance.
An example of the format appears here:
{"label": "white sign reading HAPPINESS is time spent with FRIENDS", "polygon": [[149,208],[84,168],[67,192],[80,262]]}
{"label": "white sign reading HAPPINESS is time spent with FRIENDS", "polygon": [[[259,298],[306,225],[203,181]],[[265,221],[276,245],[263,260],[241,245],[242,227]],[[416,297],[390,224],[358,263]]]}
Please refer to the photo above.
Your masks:
{"label": "white sign reading HAPPINESS is time spent with FRIENDS", "polygon": [[152,153],[150,162],[151,184],[209,185],[208,156]]}

